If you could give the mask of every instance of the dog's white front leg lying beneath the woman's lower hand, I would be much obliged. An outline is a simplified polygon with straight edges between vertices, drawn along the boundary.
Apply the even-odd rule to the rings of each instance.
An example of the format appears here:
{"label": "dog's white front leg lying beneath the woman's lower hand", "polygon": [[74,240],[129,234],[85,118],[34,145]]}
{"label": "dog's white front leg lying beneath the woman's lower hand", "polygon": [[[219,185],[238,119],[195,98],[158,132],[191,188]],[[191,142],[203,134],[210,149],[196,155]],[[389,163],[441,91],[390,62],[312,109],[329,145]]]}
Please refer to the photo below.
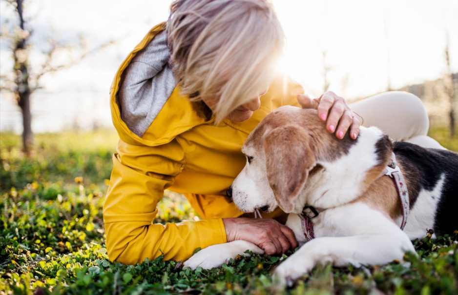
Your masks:
{"label": "dog's white front leg lying beneath the woman's lower hand", "polygon": [[183,265],[191,269],[196,269],[199,266],[204,269],[220,267],[223,263],[229,262],[230,258],[233,259],[237,255],[249,256],[249,254],[245,253],[247,250],[256,254],[264,254],[264,251],[255,244],[238,240],[208,246],[187,259]]}

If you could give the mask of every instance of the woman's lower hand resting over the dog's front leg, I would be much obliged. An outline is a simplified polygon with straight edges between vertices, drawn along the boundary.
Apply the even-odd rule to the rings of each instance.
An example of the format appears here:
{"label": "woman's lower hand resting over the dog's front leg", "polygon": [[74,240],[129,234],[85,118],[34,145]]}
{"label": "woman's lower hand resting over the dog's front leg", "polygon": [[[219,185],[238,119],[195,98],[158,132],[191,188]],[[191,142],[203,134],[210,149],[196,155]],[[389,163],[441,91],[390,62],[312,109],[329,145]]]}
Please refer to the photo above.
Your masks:
{"label": "woman's lower hand resting over the dog's front leg", "polygon": [[249,241],[267,255],[294,250],[297,241],[292,230],[271,218],[223,218],[228,242]]}

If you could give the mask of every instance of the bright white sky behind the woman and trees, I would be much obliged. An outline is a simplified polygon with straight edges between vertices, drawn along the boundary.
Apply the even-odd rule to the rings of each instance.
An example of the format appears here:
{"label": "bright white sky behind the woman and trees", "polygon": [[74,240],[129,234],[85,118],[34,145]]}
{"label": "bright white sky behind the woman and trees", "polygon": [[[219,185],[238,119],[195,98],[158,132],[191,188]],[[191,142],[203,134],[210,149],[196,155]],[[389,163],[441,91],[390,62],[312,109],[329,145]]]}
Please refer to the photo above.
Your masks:
{"label": "bright white sky behind the woman and trees", "polygon": [[[116,43],[57,74],[45,76],[32,101],[33,130],[53,132],[111,126],[108,92],[117,68],[155,24],[167,19],[169,0],[28,0],[34,28],[32,65],[56,34],[88,48]],[[448,31],[452,70],[458,72],[458,0],[273,0],[288,47],[281,68],[305,92],[323,89],[323,53],[330,90],[351,101],[406,84],[442,77]],[[27,11],[26,11],[27,12]],[[0,22],[12,11],[0,1]],[[0,72],[11,54],[0,44]],[[78,51],[73,52],[74,56]],[[62,56],[61,58],[66,58]],[[0,94],[0,131],[21,132],[19,108]]]}

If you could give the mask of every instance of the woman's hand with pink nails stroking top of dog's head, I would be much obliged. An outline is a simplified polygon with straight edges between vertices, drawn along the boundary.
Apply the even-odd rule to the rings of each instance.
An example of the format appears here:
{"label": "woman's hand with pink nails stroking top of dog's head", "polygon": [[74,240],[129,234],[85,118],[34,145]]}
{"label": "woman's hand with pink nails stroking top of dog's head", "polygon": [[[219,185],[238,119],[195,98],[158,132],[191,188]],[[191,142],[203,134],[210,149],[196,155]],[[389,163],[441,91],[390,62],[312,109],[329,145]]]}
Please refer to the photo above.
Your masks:
{"label": "woman's hand with pink nails stroking top of dog's head", "polygon": [[[361,122],[353,115],[345,99],[332,91],[324,93],[319,98],[309,98],[305,94],[297,96],[297,101],[304,109],[318,110],[318,117],[326,121],[326,128],[342,139],[350,128],[350,137],[356,139]],[[337,126],[338,124],[338,126]]]}

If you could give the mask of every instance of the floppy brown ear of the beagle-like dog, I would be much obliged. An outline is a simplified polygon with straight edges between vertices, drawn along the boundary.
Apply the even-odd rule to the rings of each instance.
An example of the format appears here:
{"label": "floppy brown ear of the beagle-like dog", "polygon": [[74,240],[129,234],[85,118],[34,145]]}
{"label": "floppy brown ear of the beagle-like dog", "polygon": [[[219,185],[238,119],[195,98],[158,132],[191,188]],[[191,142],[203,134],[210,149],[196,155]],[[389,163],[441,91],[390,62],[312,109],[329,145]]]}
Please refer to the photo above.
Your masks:
{"label": "floppy brown ear of the beagle-like dog", "polygon": [[291,213],[316,160],[305,128],[284,126],[263,138],[269,185],[280,208]]}

